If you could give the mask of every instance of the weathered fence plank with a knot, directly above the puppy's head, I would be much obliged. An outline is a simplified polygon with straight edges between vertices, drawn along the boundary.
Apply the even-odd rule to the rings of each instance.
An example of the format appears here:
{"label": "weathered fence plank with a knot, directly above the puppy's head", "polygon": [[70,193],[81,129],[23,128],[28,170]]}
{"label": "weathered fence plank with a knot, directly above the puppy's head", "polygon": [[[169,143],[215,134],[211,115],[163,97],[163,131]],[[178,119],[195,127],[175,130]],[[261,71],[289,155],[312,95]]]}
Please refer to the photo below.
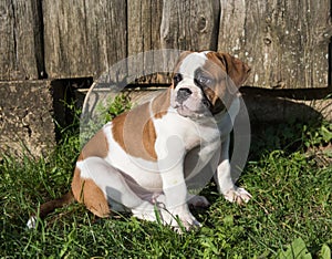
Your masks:
{"label": "weathered fence plank with a knot, directly above the puppy's head", "polygon": [[164,1],[162,46],[179,50],[216,50],[219,22],[217,0]]}

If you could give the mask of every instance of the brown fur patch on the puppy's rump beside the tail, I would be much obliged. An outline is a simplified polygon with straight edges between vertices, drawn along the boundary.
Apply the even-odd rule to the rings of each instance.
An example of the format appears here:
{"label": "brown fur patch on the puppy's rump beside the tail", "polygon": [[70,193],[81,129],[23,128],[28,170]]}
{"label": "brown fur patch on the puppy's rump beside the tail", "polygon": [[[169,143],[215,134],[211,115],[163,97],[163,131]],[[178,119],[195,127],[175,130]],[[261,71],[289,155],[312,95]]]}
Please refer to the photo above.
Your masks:
{"label": "brown fur patch on the puppy's rump beside the tail", "polygon": [[111,210],[104,193],[92,179],[82,178],[77,167],[74,170],[72,193],[94,215],[101,218],[110,216]]}

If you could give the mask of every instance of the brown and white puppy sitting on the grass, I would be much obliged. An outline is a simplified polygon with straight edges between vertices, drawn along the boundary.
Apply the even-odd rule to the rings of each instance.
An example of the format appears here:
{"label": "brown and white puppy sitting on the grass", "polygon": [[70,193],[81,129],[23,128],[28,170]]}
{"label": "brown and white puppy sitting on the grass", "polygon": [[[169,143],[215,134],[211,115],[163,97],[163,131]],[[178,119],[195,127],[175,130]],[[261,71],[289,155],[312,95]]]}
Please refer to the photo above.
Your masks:
{"label": "brown and white puppy sitting on the grass", "polygon": [[200,224],[189,205],[208,206],[193,191],[212,176],[227,200],[247,203],[251,196],[235,185],[228,149],[237,90],[249,71],[227,53],[183,52],[170,87],[104,125],[82,149],[71,191],[41,205],[40,217],[77,200],[98,217],[131,211],[155,221],[158,213],[165,225],[190,229]]}

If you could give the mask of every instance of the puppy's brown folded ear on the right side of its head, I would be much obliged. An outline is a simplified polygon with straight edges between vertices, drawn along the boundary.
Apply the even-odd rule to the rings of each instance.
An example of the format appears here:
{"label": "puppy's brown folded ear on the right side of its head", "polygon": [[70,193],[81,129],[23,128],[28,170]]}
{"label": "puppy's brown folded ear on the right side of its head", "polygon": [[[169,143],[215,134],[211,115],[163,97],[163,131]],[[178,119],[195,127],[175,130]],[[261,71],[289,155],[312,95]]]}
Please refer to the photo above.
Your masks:
{"label": "puppy's brown folded ear on the right side of its head", "polygon": [[250,73],[250,68],[242,62],[241,60],[225,53],[225,52],[215,52],[217,58],[225,65],[226,72],[229,77],[232,80],[235,85],[239,87],[248,79]]}

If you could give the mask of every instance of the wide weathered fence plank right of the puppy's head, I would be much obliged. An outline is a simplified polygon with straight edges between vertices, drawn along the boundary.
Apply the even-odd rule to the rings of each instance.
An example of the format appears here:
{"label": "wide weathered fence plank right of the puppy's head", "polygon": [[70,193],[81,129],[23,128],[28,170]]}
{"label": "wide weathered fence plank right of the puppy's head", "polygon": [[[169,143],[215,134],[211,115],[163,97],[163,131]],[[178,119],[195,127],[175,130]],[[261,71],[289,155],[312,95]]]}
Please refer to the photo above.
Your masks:
{"label": "wide weathered fence plank right of the puppy's head", "polygon": [[252,68],[248,85],[328,86],[330,0],[221,0],[218,50]]}

